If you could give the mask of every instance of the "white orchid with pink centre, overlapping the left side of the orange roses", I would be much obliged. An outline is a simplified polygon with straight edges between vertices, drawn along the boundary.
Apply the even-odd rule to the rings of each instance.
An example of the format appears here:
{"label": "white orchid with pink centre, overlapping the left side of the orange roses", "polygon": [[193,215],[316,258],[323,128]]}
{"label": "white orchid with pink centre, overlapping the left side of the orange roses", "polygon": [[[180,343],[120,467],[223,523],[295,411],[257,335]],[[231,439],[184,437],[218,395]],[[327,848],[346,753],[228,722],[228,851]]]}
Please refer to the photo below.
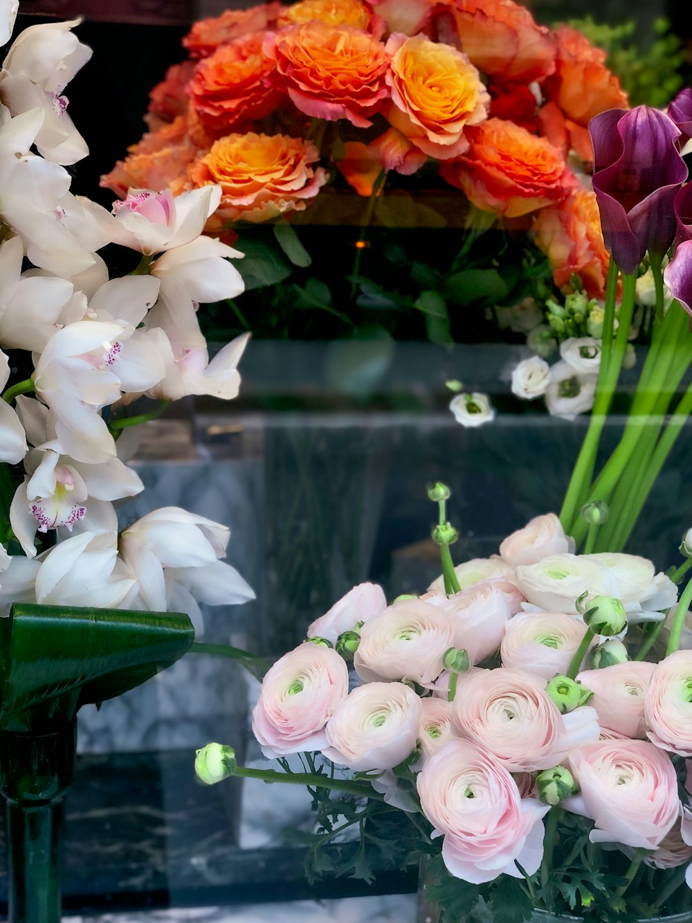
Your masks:
{"label": "white orchid with pink centre, overlapping the left side of the orange roses", "polygon": [[203,186],[176,197],[170,189],[131,189],[127,198],[114,203],[113,213],[89,199],[78,201],[113,244],[150,256],[194,241],[219,207],[221,186]]}

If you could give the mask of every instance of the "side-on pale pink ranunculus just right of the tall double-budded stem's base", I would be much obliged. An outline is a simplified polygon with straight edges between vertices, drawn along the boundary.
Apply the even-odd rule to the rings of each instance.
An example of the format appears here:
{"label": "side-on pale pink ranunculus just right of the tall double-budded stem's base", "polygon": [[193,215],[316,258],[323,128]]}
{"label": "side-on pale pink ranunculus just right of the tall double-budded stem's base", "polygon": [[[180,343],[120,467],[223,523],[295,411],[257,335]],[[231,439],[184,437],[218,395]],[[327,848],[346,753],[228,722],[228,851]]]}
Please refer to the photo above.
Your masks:
{"label": "side-on pale pink ranunculus just right of the tall double-budded stem's base", "polygon": [[[477,664],[499,649],[505,626],[512,617],[503,581],[475,583],[453,596],[427,596],[430,605],[442,609],[454,628],[454,646],[463,648]],[[514,597],[509,593],[509,600]]]}

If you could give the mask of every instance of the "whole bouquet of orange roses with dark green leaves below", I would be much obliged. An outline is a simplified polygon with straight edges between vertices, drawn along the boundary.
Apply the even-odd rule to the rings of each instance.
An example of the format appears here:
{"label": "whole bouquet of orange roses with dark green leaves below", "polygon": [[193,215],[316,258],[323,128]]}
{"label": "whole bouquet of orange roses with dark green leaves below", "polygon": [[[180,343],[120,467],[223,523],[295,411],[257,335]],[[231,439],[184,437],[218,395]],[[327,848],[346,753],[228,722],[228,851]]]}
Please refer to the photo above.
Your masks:
{"label": "whole bouquet of orange roses with dark green leaves below", "polygon": [[[453,342],[496,337],[483,306],[575,273],[603,297],[587,126],[627,94],[579,30],[513,0],[302,0],[227,10],[183,44],[101,184],[221,185],[207,233],[239,241],[253,291],[212,326]],[[556,220],[579,249],[568,268]]]}

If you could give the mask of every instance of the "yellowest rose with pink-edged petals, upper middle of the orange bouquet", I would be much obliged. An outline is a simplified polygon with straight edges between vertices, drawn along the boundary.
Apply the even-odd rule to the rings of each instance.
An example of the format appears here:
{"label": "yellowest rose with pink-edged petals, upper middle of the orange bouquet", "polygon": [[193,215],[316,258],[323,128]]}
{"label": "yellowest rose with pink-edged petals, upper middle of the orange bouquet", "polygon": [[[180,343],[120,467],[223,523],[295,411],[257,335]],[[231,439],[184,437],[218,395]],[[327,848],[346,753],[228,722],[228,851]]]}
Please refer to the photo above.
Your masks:
{"label": "yellowest rose with pink-edged petals, upper middle of the orange bouquet", "polygon": [[487,116],[490,96],[465,54],[423,36],[394,34],[387,42],[391,102],[388,121],[429,157],[458,157],[464,131]]}

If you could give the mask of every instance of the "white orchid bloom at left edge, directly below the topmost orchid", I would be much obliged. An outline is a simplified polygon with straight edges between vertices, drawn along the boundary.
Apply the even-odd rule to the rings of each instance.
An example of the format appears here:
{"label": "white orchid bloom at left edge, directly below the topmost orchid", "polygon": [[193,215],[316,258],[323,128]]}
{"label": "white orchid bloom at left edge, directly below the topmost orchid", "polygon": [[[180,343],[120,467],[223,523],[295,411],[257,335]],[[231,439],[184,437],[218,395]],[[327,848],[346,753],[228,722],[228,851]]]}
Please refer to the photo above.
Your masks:
{"label": "white orchid bloom at left edge, directly below the topmost orchid", "polygon": [[69,277],[89,269],[94,257],[63,222],[69,174],[30,153],[43,120],[42,109],[13,118],[0,105],[0,218],[21,237],[34,266]]}

